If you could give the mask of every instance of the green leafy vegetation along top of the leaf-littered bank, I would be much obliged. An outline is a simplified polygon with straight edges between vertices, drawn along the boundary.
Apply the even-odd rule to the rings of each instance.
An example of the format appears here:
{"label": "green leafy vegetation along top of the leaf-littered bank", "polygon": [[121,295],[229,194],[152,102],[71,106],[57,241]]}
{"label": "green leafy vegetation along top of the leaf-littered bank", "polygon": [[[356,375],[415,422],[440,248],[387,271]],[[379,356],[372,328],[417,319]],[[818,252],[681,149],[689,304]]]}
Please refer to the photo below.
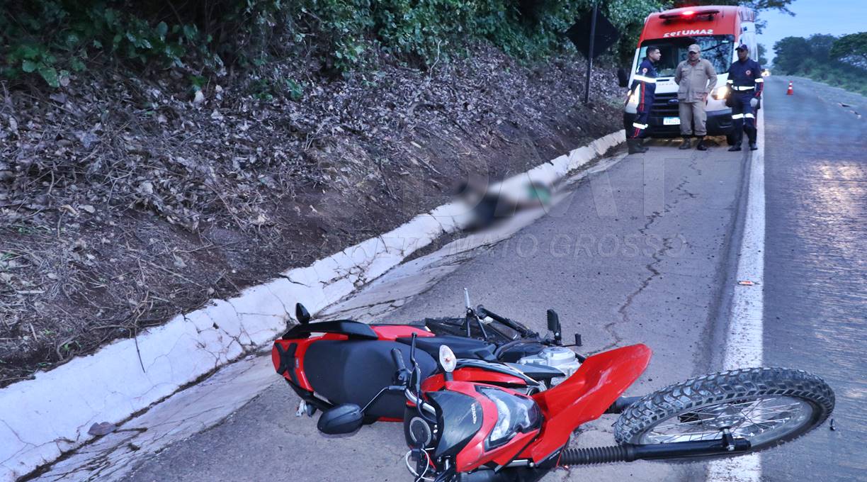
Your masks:
{"label": "green leafy vegetation along top of the leaf-littered bank", "polygon": [[[212,75],[254,71],[274,60],[313,58],[326,75],[402,62],[429,68],[492,42],[518,59],[573,49],[562,33],[591,0],[10,0],[0,7],[0,76],[67,85],[107,64],[151,73],[186,71],[192,88]],[[643,20],[661,0],[610,2],[621,26],[615,55],[631,56]],[[306,55],[305,55],[306,54]],[[262,79],[258,79],[262,80]],[[281,84],[276,86],[274,84]],[[294,80],[260,81],[267,96]]]}

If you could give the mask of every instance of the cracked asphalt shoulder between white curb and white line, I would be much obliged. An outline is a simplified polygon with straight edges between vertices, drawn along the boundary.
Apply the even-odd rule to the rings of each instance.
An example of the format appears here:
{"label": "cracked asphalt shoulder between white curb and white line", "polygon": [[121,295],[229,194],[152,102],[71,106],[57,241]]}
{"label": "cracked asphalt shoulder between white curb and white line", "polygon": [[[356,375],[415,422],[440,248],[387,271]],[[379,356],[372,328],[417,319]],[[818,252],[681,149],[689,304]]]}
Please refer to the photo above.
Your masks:
{"label": "cracked asphalt shoulder between white curb and white line", "polygon": [[[645,394],[714,368],[714,327],[732,276],[731,248],[746,153],[680,151],[662,142],[590,176],[549,216],[479,249],[385,321],[458,315],[461,290],[506,316],[544,328],[557,309],[585,351],[644,342],[655,351],[628,394]],[[737,239],[735,238],[736,242]],[[362,294],[362,296],[364,296]],[[148,460],[133,481],[407,480],[401,427],[380,423],[324,437],[294,416],[278,382],[249,405]],[[611,445],[613,416],[583,427],[574,446]],[[546,480],[696,480],[701,463],[575,467]]]}

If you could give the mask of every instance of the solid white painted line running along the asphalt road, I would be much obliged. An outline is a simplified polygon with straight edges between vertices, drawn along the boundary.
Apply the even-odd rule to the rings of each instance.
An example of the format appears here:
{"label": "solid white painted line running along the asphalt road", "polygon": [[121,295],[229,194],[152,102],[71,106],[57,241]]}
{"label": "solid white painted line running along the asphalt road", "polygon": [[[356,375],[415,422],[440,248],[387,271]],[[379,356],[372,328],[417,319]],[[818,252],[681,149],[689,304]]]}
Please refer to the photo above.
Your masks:
{"label": "solid white painted line running along the asphalt road", "polygon": [[[759,109],[759,150],[753,151],[750,184],[746,200],[744,236],[740,243],[735,281],[752,281],[753,286],[735,286],[732,316],[728,326],[723,369],[760,367],[762,364],[762,317],[765,281],[765,109]],[[758,453],[711,462],[707,480],[712,482],[758,482],[761,456]]]}

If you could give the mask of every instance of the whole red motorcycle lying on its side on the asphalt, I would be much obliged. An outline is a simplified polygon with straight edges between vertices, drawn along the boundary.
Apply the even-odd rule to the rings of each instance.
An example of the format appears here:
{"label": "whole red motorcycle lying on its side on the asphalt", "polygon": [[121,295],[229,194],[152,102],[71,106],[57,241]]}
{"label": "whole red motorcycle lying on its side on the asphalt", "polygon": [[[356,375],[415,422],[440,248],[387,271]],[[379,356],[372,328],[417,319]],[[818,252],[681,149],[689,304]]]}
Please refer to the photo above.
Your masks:
{"label": "whole red motorcycle lying on its side on the asphalt", "polygon": [[[466,332],[472,335],[469,313],[479,313],[467,311]],[[790,368],[731,370],[624,398],[650,360],[645,345],[580,357],[577,370],[564,378],[564,371],[551,366],[459,359],[448,343],[433,342],[438,335],[418,326],[362,329],[354,322],[307,321],[275,342],[277,372],[309,403],[308,414],[323,410],[317,424],[323,433],[402,419],[407,468],[416,481],[525,482],[558,466],[742,455],[799,437],[834,408],[825,381]],[[549,327],[559,329],[551,316]],[[324,335],[310,338],[312,333]],[[531,342],[556,345],[557,335]],[[514,347],[525,341],[512,342]],[[508,343],[489,351],[493,355]],[[431,346],[437,347],[438,362]],[[563,381],[555,383],[557,378]],[[603,414],[620,414],[617,445],[568,448],[577,427]]]}

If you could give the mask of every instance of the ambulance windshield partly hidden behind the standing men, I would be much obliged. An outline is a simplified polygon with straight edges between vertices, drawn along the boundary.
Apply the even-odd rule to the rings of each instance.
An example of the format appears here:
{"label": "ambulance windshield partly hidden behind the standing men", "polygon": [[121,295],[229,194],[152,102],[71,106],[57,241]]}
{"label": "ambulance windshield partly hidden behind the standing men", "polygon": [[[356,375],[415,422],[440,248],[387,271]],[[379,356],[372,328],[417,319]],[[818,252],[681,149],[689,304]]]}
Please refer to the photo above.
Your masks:
{"label": "ambulance windshield partly hidden behind the standing men", "polygon": [[710,61],[717,75],[723,74],[734,60],[734,36],[681,36],[642,42],[638,62],[647,55],[648,47],[659,47],[662,58],[656,63],[660,77],[675,76],[677,64],[687,60],[687,49],[693,43],[701,47],[701,58]]}

